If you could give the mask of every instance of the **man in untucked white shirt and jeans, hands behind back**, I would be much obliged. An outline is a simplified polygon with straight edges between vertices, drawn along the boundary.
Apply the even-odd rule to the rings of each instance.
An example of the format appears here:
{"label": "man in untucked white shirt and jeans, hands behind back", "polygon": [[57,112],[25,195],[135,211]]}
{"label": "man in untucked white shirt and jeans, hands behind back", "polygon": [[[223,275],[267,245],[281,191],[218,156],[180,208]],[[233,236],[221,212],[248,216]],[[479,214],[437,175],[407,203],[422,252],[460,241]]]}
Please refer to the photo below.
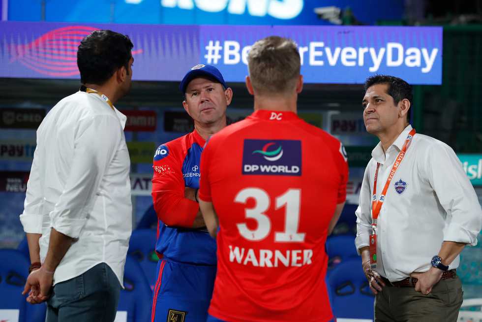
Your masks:
{"label": "man in untucked white shirt and jeans, hands behind back", "polygon": [[77,53],[81,90],[37,129],[25,208],[29,243],[24,293],[47,301],[47,322],[114,321],[132,230],[126,117],[114,103],[130,90],[133,45],[108,30]]}

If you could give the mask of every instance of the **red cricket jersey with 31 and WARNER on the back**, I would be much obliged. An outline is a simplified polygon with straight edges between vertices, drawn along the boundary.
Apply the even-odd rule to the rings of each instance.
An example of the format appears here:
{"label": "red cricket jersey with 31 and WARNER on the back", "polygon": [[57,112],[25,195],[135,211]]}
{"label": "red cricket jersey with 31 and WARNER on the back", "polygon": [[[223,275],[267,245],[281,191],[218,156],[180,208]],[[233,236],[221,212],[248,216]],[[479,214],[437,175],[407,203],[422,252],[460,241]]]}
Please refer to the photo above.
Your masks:
{"label": "red cricket jersey with 31 and WARNER on the back", "polygon": [[341,143],[292,112],[259,110],[213,135],[199,192],[220,225],[209,313],[330,321],[325,241],[347,178]]}

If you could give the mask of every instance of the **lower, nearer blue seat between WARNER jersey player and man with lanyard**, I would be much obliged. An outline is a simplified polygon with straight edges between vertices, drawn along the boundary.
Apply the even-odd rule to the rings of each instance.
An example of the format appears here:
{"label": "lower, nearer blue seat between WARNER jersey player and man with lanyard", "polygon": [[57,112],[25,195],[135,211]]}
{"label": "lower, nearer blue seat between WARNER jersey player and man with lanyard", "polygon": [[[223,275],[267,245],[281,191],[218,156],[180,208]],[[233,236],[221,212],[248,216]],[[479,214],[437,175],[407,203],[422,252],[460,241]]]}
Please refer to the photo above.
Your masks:
{"label": "lower, nearer blue seat between WARNER jersey player and man with lanyard", "polygon": [[361,269],[361,258],[350,258],[337,265],[328,283],[331,308],[336,318],[373,320],[375,296]]}

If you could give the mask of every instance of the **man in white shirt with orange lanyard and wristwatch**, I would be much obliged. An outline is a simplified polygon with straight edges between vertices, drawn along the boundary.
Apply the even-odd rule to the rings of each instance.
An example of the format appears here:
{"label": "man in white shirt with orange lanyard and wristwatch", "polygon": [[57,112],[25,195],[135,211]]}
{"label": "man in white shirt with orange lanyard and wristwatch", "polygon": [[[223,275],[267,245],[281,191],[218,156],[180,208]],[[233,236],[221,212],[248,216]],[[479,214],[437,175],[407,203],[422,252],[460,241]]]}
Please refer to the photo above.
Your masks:
{"label": "man in white shirt with orange lanyard and wristwatch", "polygon": [[452,148],[410,126],[409,84],[376,75],[365,90],[365,127],[380,143],[365,169],[355,243],[375,321],[455,322],[459,254],[482,225],[477,195]]}

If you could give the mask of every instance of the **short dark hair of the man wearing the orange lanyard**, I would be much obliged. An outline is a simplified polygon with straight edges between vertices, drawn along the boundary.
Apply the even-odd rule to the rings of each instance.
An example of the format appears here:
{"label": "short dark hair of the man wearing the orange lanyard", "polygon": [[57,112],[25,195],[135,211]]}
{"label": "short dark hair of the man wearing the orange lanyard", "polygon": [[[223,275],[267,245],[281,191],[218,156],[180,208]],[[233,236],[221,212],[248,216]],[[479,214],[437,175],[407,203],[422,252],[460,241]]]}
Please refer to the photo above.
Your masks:
{"label": "short dark hair of the man wearing the orange lanyard", "polygon": [[402,99],[408,99],[410,102],[410,111],[407,113],[407,122],[410,122],[410,114],[412,111],[412,101],[413,101],[413,94],[412,94],[412,86],[408,84],[401,78],[390,76],[390,75],[374,75],[370,76],[365,81],[365,92],[368,88],[372,87],[373,85],[378,84],[387,84],[387,94],[393,97],[393,101],[395,105],[398,104],[399,101]]}

